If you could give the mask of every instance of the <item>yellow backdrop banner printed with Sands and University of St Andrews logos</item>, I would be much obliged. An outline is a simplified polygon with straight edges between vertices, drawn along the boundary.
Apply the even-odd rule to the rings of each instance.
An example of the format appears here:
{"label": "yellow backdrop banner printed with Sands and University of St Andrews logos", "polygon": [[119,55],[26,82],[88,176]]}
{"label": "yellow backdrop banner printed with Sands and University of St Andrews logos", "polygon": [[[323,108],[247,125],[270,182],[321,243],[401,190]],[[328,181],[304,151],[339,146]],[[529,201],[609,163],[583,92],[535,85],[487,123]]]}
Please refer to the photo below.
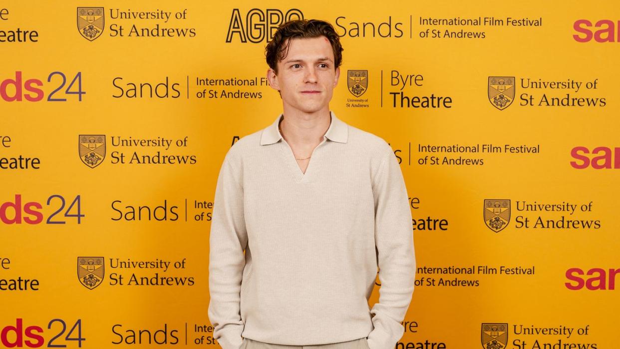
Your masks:
{"label": "yellow backdrop banner printed with Sands and University of St Andrews logos", "polygon": [[264,47],[298,18],[407,184],[396,348],[618,348],[616,1],[2,1],[0,348],[219,348],[217,175],[281,112]]}

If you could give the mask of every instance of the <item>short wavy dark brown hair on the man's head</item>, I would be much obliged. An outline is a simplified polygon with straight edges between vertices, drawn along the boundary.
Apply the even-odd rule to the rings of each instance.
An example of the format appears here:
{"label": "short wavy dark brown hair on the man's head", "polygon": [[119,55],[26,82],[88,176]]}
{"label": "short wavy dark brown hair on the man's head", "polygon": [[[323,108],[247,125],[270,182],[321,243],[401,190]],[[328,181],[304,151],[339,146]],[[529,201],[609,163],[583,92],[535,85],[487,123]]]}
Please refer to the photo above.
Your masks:
{"label": "short wavy dark brown hair on the man's head", "polygon": [[278,73],[278,62],[288,55],[289,39],[326,37],[334,51],[334,69],[342,64],[340,37],[329,22],[317,19],[296,19],[280,24],[272,41],[265,46],[265,59],[269,68]]}

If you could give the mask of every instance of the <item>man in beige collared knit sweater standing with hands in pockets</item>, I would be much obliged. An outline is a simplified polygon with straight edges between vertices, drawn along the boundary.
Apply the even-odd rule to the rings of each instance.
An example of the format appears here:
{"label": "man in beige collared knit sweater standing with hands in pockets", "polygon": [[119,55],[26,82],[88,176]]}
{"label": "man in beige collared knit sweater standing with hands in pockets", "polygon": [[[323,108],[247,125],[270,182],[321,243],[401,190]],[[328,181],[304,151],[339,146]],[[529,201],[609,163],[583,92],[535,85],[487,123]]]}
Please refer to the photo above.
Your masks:
{"label": "man in beige collared knit sweater standing with hands in pockets", "polygon": [[[342,61],[330,24],[287,22],[266,51],[283,114],[239,139],[219,172],[213,336],[224,349],[394,348],[415,276],[396,156],[330,112]],[[378,267],[379,303],[369,309]]]}

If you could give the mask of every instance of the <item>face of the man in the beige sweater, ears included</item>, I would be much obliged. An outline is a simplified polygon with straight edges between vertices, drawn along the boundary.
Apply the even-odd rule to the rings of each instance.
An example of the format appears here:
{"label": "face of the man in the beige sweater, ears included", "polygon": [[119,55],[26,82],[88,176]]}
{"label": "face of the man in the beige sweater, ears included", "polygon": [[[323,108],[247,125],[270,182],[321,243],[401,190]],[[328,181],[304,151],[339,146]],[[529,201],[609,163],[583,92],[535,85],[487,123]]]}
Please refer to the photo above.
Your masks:
{"label": "face of the man in the beige sweater, ears included", "polygon": [[285,112],[329,112],[339,76],[332,45],[325,37],[291,39],[288,55],[278,62],[278,73],[267,71],[269,84],[280,91]]}

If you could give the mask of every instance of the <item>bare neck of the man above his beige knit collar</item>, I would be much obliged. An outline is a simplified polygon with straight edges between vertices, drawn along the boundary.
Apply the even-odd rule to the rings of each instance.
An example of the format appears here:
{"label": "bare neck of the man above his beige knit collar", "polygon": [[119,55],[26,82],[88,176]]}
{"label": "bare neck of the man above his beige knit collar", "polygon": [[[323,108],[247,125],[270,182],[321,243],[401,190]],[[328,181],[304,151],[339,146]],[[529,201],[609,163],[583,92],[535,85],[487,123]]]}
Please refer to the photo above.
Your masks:
{"label": "bare neck of the man above his beige knit collar", "polygon": [[316,145],[321,143],[331,121],[329,108],[314,113],[285,110],[280,121],[280,132],[288,143]]}

